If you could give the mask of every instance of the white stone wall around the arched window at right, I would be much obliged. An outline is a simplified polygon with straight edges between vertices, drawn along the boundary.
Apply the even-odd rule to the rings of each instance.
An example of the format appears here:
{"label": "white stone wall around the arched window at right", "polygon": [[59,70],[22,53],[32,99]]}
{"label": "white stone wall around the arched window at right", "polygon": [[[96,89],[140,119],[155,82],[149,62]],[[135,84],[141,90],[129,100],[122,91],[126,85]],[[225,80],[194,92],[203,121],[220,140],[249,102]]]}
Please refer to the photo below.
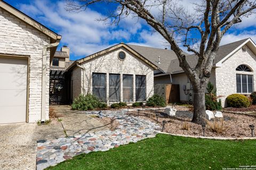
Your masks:
{"label": "white stone wall around the arched window at right", "polygon": [[[224,61],[221,67],[217,67],[215,69],[215,77],[216,77],[216,88],[217,88],[217,96],[222,96],[222,106],[226,107],[226,98],[228,95],[236,94],[236,73],[239,74],[252,74],[254,77],[254,90],[256,89],[256,56],[250,50],[249,47],[245,45],[245,52],[243,52],[242,48],[237,50],[236,53],[231,55],[226,61]],[[236,67],[245,64],[252,69],[252,72],[241,72],[236,71]],[[245,94],[249,95],[249,94]]]}

